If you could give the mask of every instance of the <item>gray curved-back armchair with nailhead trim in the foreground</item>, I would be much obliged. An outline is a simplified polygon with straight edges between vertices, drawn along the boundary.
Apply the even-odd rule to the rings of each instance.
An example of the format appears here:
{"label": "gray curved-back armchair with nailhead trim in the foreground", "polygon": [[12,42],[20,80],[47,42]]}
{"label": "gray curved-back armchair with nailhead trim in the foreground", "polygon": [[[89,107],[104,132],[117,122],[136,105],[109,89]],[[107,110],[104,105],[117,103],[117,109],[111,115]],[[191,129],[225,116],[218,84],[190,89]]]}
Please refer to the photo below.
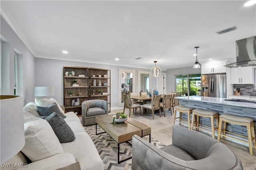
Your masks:
{"label": "gray curved-back armchair with nailhead trim in the foreground", "polygon": [[132,137],[132,170],[242,170],[242,162],[223,143],[173,125],[172,145],[158,149]]}

